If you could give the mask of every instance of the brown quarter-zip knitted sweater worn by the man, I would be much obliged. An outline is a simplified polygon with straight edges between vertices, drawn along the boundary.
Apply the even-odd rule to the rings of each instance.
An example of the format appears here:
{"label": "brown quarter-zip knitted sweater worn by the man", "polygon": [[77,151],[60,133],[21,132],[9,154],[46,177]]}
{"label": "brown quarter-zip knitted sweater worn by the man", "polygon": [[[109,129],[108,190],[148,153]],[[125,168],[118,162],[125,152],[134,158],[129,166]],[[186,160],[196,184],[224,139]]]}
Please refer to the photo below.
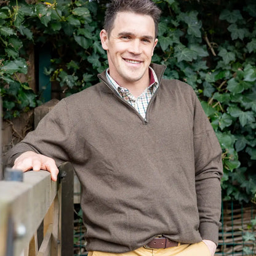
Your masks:
{"label": "brown quarter-zip knitted sweater worn by the man", "polygon": [[145,121],[106,79],[61,100],[9,151],[70,161],[81,182],[87,250],[127,252],[163,234],[218,243],[222,151],[193,89],[162,79]]}

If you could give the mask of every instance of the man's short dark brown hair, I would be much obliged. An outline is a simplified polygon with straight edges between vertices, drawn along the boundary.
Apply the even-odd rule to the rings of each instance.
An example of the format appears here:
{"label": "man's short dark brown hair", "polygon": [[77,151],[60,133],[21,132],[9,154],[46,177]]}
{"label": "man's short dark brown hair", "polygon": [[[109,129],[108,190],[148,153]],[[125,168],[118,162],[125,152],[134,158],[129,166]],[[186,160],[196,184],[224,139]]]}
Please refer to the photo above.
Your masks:
{"label": "man's short dark brown hair", "polygon": [[155,37],[158,34],[158,22],[161,10],[151,0],[112,0],[105,13],[104,29],[110,35],[118,12],[134,12],[149,15],[154,20]]}

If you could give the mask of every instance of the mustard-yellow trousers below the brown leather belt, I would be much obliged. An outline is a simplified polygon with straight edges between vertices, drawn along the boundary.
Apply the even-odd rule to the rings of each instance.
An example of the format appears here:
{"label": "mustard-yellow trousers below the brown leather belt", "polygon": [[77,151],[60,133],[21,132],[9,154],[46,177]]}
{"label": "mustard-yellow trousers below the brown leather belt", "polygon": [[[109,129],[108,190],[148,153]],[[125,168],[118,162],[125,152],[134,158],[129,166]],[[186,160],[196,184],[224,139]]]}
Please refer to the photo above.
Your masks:
{"label": "mustard-yellow trousers below the brown leather belt", "polygon": [[140,247],[132,252],[113,254],[94,250],[88,256],[211,256],[210,251],[204,242],[197,244],[183,244],[182,246],[169,247],[166,249],[145,249]]}

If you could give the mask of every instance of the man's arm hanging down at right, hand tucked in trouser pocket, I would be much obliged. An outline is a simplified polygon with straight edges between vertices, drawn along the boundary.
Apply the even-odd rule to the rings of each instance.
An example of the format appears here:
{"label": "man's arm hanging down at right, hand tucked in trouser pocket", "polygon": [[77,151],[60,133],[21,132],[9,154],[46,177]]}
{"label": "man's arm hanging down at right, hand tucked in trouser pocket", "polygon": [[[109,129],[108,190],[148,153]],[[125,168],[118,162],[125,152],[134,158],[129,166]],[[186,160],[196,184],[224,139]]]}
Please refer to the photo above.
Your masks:
{"label": "man's arm hanging down at right, hand tucked in trouser pocket", "polygon": [[194,101],[194,165],[199,232],[212,255],[218,244],[221,214],[222,149],[198,98]]}

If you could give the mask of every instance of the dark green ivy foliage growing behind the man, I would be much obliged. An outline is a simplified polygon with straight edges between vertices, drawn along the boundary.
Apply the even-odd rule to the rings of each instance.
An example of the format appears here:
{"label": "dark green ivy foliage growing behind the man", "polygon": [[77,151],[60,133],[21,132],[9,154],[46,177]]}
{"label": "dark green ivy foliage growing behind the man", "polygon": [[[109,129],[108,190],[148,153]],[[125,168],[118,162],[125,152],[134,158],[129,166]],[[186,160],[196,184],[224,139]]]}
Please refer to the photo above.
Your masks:
{"label": "dark green ivy foliage growing behind the man", "polygon": [[[223,197],[255,198],[256,3],[254,0],[154,0],[162,10],[153,62],[196,91],[223,150]],[[28,42],[50,46],[45,73],[66,95],[98,82],[108,66],[100,44],[103,0],[12,2],[0,8],[0,87],[4,118],[38,104],[18,81]]]}

